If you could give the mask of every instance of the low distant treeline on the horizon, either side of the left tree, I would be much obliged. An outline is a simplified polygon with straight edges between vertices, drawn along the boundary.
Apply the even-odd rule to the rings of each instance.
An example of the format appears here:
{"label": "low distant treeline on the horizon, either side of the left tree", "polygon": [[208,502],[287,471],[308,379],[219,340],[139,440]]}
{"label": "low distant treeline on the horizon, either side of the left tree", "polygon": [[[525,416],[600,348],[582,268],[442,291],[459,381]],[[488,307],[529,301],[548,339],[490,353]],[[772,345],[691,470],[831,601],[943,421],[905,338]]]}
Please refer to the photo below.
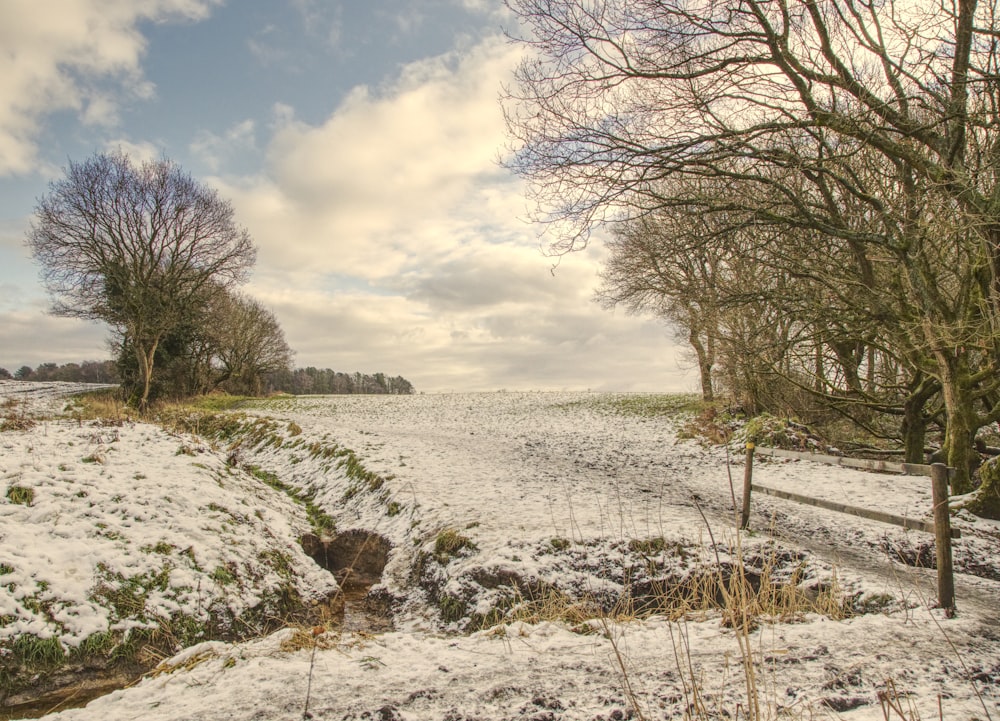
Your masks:
{"label": "low distant treeline on the horizon, either side of the left tree", "polygon": [[[121,377],[114,361],[84,361],[83,363],[42,363],[37,368],[21,366],[14,373],[0,368],[0,379],[24,381],[67,381],[71,383],[120,383]],[[409,395],[413,384],[402,376],[385,373],[341,373],[330,368],[297,368],[278,371],[264,378],[268,393],[293,395],[329,395],[349,393],[374,393]]]}

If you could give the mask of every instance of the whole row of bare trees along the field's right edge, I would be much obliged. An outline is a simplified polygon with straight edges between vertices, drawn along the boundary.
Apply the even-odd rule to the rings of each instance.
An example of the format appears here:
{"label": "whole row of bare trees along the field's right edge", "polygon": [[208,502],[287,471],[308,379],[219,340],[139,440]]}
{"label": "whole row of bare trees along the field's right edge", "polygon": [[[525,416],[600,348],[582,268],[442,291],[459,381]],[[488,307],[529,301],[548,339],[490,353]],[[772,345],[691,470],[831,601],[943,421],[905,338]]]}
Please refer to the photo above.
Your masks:
{"label": "whole row of bare trees along the field's right edge", "polygon": [[841,414],[910,461],[941,427],[971,490],[1000,421],[995,5],[507,5],[506,162],[552,252],[610,230],[598,299],[678,329],[706,397]]}

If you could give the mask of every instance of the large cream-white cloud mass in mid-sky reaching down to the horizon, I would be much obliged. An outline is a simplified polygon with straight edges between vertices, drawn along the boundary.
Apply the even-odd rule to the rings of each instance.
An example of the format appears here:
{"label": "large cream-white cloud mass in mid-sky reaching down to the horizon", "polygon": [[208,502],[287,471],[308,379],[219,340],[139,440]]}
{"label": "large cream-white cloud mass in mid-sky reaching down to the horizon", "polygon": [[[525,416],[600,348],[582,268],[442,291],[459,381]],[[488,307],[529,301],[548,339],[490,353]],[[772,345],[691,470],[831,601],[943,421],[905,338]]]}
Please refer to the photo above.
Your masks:
{"label": "large cream-white cloud mass in mid-sky reaching down to the horizon", "polygon": [[357,87],[322,124],[276,106],[265,172],[219,178],[260,246],[248,289],[296,363],[401,374],[421,390],[687,389],[666,330],[591,301],[599,248],[563,262],[496,164],[499,38]]}

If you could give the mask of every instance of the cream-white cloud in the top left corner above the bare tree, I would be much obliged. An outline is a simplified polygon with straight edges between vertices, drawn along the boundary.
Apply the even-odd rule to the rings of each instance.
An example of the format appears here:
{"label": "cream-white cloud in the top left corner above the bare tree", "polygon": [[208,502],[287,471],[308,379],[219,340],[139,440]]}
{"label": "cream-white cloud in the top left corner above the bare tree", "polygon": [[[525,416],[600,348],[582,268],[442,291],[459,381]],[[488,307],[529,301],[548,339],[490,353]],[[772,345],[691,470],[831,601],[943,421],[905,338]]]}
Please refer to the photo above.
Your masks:
{"label": "cream-white cloud in the top left corner above the bare tree", "polygon": [[[0,21],[0,175],[36,163],[46,115],[70,110],[87,124],[118,121],[114,96],[153,93],[140,61],[142,20],[200,20],[219,0],[5,0]],[[112,82],[114,96],[101,88]]]}

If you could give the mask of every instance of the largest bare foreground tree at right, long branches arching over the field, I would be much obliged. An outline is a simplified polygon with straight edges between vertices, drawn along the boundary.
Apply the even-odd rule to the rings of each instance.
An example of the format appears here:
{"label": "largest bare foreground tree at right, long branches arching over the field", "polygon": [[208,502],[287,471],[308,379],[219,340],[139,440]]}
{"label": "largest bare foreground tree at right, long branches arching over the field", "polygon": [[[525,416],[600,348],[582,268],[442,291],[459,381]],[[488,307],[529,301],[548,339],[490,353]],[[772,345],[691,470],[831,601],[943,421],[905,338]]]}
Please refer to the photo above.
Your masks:
{"label": "largest bare foreground tree at right, long branches arching over the field", "polygon": [[[552,251],[675,205],[773,229],[796,245],[789,258],[849,249],[890,276],[860,287],[865,314],[878,322],[883,293],[909,309],[877,330],[940,383],[954,489],[968,490],[974,434],[1000,419],[995,6],[507,4],[528,50],[505,97],[507,164],[528,180]],[[740,192],[669,191],[705,178]]]}

